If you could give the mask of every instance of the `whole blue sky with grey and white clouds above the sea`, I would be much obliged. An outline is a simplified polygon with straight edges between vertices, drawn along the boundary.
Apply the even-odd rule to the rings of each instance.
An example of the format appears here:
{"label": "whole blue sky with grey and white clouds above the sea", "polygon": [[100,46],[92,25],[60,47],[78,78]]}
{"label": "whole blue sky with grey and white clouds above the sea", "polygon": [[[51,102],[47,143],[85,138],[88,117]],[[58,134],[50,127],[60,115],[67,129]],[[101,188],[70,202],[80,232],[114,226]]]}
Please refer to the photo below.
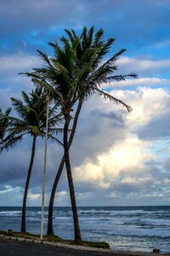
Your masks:
{"label": "whole blue sky with grey and white clouds above the sea", "polygon": [[[139,79],[102,84],[101,89],[133,112],[93,96],[84,103],[71,147],[71,166],[82,206],[170,205],[170,2],[169,0],[0,0],[0,108],[30,92],[18,73],[41,67],[41,49],[64,29],[103,28],[116,38],[110,55],[127,49],[115,74]],[[108,55],[109,57],[109,55]],[[105,59],[106,60],[106,59]],[[38,140],[27,206],[40,206],[43,144]],[[46,205],[63,148],[48,143]],[[31,137],[0,155],[0,206],[21,206],[31,157]],[[65,170],[55,206],[70,206]]]}

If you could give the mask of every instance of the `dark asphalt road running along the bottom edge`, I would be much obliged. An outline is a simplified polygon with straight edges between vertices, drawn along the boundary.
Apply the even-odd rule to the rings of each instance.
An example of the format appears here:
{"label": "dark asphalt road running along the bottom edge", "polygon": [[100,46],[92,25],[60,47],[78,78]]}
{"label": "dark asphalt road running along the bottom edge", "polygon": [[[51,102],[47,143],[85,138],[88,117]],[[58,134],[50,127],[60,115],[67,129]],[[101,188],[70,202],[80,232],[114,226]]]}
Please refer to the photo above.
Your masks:
{"label": "dark asphalt road running along the bottom edge", "polygon": [[[59,245],[52,242],[17,241],[17,237],[0,237],[0,256],[170,256],[170,253],[116,252],[110,249]],[[21,238],[20,238],[21,239]]]}

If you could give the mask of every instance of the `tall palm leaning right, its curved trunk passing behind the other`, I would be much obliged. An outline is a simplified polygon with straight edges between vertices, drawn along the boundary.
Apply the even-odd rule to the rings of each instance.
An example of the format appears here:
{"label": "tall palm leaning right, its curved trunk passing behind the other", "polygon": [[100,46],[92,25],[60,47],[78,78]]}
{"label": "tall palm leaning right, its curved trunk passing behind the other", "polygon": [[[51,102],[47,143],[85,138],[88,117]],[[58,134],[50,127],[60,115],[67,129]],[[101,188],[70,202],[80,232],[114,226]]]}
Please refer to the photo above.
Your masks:
{"label": "tall palm leaning right, its curved trunk passing behind the other", "polygon": [[[114,38],[109,38],[107,41],[103,41],[103,30],[100,29],[94,35],[94,26],[87,31],[87,28],[84,27],[82,31],[82,35],[80,37],[77,36],[76,32],[71,30],[65,30],[67,36],[69,37],[69,41],[72,45],[75,44],[75,41],[79,42],[77,44],[77,66],[78,67],[87,67],[84,69],[84,73],[82,73],[82,78],[80,79],[80,87],[79,87],[79,99],[77,105],[77,111],[75,114],[74,122],[71,129],[71,137],[69,139],[69,147],[71,147],[71,143],[73,137],[75,135],[75,131],[77,128],[77,119],[79,117],[79,113],[82,108],[82,102],[94,94],[95,90],[100,95],[104,96],[104,98],[109,98],[111,101],[116,103],[121,103],[124,107],[127,108],[127,111],[130,111],[131,108],[127,106],[124,102],[116,99],[115,97],[105,93],[102,90],[99,90],[98,87],[95,87],[95,84],[100,84],[103,82],[107,82],[111,80],[122,81],[125,80],[127,77],[136,78],[136,74],[128,74],[128,75],[118,75],[113,76],[112,74],[116,71],[116,60],[118,57],[125,51],[122,49],[116,55],[111,56],[109,61],[106,61],[101,65],[103,62],[103,58],[111,49],[111,45],[114,43]],[[67,38],[62,38],[62,41],[67,42]],[[54,48],[56,47],[55,44],[50,43],[51,46]],[[108,75],[111,73],[111,76]],[[65,164],[65,155],[63,156],[62,160],[59,164],[59,169],[54,179],[54,185],[51,191],[49,205],[48,205],[48,235],[54,235],[53,229],[53,207],[54,207],[54,195],[57,189],[57,185],[59,183],[59,177],[63,170]]]}

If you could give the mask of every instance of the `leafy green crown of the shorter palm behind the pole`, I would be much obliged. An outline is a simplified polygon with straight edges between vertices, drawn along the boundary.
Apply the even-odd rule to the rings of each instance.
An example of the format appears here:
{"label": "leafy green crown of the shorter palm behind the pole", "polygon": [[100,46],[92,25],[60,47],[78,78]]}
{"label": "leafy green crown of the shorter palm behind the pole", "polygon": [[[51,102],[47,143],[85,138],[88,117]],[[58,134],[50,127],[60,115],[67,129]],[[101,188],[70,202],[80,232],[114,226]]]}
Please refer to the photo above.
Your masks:
{"label": "leafy green crown of the shorter palm behind the pole", "polygon": [[[3,140],[3,148],[6,149],[20,142],[26,134],[35,137],[44,137],[45,135],[46,102],[42,94],[42,89],[36,88],[29,95],[25,91],[22,91],[21,95],[23,101],[11,98],[14,110],[19,117],[8,117],[8,137]],[[56,127],[61,121],[62,116],[56,112],[56,106],[50,108],[48,137],[57,142],[59,140],[54,137],[54,134],[56,135],[59,131],[62,131],[62,129]]]}

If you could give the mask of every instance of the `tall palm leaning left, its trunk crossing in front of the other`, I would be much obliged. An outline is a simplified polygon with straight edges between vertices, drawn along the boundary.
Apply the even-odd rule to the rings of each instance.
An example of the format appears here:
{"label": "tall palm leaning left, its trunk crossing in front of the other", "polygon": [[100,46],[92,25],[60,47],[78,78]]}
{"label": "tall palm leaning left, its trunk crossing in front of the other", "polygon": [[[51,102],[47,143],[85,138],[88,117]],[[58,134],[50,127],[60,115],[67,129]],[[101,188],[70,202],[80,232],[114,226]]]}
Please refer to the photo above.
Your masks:
{"label": "tall palm leaning left, its trunk crossing in front of the other", "polygon": [[75,241],[82,241],[78,215],[77,204],[75,198],[74,185],[71,174],[71,162],[69,154],[68,131],[71,122],[71,111],[77,102],[77,81],[80,76],[80,71],[77,68],[75,55],[75,46],[71,46],[66,42],[63,43],[63,48],[56,44],[54,49],[54,58],[49,59],[48,55],[38,51],[42,56],[42,60],[46,63],[46,67],[36,68],[33,73],[26,73],[32,78],[32,81],[48,90],[54,99],[59,101],[61,111],[63,113],[64,122],[64,152],[65,152],[65,167],[69,183],[71,195],[71,207],[74,219]]}

